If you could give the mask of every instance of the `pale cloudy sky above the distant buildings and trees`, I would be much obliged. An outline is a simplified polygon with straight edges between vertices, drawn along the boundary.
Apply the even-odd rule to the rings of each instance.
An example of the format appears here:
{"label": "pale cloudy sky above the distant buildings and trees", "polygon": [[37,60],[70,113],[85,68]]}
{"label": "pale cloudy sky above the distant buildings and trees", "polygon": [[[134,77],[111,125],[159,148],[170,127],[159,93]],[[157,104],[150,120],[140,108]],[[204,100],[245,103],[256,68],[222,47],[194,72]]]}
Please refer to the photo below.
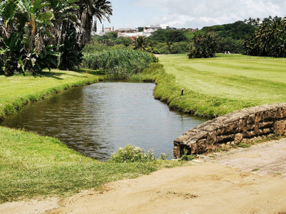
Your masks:
{"label": "pale cloudy sky above the distant buildings and trees", "polygon": [[[199,28],[244,19],[286,16],[285,0],[109,0],[111,23],[104,27],[144,27],[167,24],[176,28]],[[98,23],[98,28],[100,28]]]}

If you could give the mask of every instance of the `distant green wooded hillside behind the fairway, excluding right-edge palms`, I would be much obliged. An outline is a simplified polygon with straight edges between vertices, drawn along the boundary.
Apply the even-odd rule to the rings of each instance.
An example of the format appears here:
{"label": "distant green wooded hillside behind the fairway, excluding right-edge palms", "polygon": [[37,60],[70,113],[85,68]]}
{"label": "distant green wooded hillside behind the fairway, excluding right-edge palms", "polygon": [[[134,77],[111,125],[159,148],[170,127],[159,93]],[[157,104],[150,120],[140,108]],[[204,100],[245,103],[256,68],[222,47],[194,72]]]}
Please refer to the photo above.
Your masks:
{"label": "distant green wooded hillside behind the fairway, excluding right-edge palms", "polygon": [[[243,53],[243,38],[254,32],[259,19],[236,21],[225,25],[203,27],[203,29],[158,29],[150,37],[137,38],[119,37],[116,32],[109,32],[104,36],[94,36],[94,41],[106,48],[124,45],[133,49],[140,49],[155,54],[190,53],[193,50],[193,40],[203,35],[212,34],[217,40],[214,53]],[[139,30],[140,29],[140,30]],[[143,31],[143,27],[138,28]],[[98,47],[100,47],[98,45]],[[102,47],[100,47],[101,49]]]}

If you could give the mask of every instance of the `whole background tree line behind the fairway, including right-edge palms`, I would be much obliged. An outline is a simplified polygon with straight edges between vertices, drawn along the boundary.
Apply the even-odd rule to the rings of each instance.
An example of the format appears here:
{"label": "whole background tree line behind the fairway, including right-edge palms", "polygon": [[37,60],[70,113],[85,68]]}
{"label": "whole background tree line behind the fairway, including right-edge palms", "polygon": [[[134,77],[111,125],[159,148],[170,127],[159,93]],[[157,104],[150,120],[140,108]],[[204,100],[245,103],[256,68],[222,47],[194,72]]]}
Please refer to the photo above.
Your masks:
{"label": "whole background tree line behind the fairway, including right-edge palms", "polygon": [[[245,19],[225,25],[186,30],[158,29],[152,36],[118,38],[115,32],[96,38],[109,46],[125,45],[151,53],[188,53],[189,58],[209,58],[215,53],[243,53],[251,56],[286,56],[286,18]],[[104,41],[104,42],[102,42]]]}

